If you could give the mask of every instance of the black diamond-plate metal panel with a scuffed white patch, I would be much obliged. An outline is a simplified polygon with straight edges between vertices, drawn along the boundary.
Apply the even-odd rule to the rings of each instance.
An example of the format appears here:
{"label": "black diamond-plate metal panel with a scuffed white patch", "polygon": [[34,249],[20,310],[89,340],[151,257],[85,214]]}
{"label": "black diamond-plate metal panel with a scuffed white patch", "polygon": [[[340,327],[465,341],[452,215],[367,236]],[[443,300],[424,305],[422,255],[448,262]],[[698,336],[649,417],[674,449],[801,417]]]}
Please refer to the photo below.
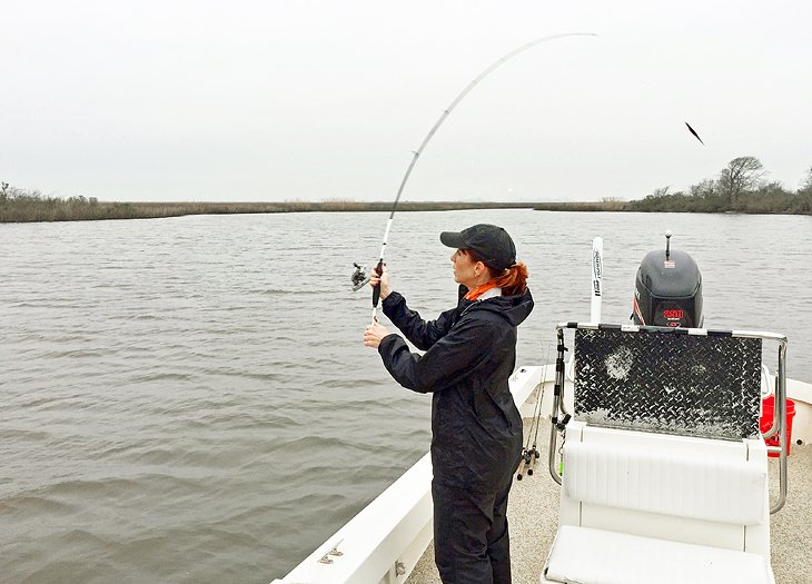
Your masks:
{"label": "black diamond-plate metal panel with a scuffed white patch", "polygon": [[759,436],[760,338],[575,331],[575,417],[597,426]]}

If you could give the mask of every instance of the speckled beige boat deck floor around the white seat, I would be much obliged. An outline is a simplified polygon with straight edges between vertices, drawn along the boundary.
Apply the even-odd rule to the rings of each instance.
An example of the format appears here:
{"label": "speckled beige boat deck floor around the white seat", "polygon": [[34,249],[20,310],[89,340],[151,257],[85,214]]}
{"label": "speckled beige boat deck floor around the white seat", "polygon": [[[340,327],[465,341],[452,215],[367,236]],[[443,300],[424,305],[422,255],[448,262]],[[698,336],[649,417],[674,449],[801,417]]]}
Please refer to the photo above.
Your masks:
{"label": "speckled beige boat deck floor around the white seat", "polygon": [[[525,434],[529,419],[525,419]],[[547,471],[549,420],[538,430],[541,465],[533,476],[514,481],[508,502],[514,584],[536,584],[558,524],[558,485]],[[776,584],[812,584],[812,445],[793,445],[784,507],[771,515],[772,566]],[[778,497],[778,458],[770,459],[772,501]],[[407,584],[439,584],[434,544],[423,554]]]}

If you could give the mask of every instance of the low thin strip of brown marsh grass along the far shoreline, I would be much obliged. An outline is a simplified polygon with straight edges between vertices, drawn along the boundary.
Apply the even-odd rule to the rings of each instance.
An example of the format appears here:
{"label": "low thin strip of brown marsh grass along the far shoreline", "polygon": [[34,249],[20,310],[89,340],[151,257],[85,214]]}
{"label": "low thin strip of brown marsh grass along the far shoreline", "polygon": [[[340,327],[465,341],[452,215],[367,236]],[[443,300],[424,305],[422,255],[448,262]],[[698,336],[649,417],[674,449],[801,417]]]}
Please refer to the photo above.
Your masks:
{"label": "low thin strip of brown marsh grass along the far shoreline", "polygon": [[[475,209],[529,209],[537,211],[615,211],[615,212],[739,212],[799,215],[768,209],[681,210],[641,205],[641,201],[568,201],[568,202],[455,202],[402,201],[398,211],[452,211]],[[664,206],[666,207],[666,206]],[[0,222],[93,221],[109,219],[160,219],[189,215],[236,215],[277,212],[382,212],[390,211],[392,202],[351,200],[281,201],[281,202],[106,202],[95,199],[38,198],[0,202]],[[809,215],[801,212],[802,215]]]}

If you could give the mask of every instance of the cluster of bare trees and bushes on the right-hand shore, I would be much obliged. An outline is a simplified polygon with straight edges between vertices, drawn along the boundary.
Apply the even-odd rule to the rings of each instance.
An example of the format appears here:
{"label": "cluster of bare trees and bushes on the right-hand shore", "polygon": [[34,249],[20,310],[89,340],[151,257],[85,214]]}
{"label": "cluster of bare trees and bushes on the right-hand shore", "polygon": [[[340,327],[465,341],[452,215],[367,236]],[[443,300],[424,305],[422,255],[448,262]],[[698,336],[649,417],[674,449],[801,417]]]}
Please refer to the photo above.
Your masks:
{"label": "cluster of bare trees and bushes on the right-hand shore", "polygon": [[757,158],[742,156],[731,160],[716,178],[702,180],[686,191],[655,189],[625,204],[624,210],[812,215],[812,167],[794,191],[778,180],[766,180],[766,176]]}

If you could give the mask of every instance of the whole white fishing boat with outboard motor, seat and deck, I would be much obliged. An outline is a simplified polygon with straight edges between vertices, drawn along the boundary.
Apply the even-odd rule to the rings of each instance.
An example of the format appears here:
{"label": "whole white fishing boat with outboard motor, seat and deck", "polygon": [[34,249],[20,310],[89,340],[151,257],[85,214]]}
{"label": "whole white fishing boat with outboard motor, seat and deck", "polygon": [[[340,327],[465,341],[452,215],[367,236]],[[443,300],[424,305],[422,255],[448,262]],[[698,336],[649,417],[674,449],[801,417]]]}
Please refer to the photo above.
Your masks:
{"label": "whole white fishing boat with outboard motor, seat and deck", "polygon": [[[786,378],[783,335],[685,325],[682,307],[702,323],[701,277],[670,237],[634,304],[645,323],[640,290],[679,256],[689,278],[652,293],[669,326],[598,324],[596,238],[590,323],[560,324],[556,363],[509,379],[527,453],[508,502],[514,582],[812,584],[812,385]],[[438,583],[430,481],[426,454],[273,584]]]}

